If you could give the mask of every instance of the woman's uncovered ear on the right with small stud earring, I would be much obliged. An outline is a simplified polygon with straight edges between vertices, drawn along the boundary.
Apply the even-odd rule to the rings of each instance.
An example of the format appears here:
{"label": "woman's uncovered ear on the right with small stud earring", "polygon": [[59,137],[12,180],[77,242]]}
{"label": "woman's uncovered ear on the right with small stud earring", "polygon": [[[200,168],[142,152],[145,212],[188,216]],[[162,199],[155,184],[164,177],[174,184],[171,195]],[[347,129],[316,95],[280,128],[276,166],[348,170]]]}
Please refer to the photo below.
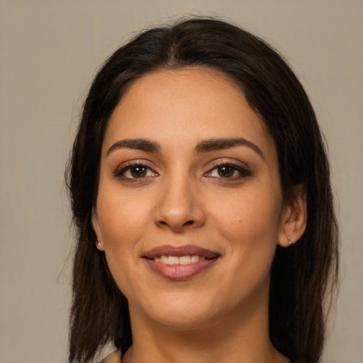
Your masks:
{"label": "woman's uncovered ear on the right with small stud earring", "polygon": [[305,232],[307,218],[306,191],[303,186],[298,185],[281,213],[278,244],[289,247],[298,241]]}

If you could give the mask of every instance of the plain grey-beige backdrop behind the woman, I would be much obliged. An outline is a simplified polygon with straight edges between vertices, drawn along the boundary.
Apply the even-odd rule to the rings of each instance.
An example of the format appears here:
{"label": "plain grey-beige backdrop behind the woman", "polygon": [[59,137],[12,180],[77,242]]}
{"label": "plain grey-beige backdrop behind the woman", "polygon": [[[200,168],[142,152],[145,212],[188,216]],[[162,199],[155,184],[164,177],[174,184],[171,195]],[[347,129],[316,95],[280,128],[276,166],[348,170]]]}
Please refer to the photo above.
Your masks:
{"label": "plain grey-beige backdrop behind the woman", "polygon": [[63,173],[96,70],[136,31],[221,16],[277,48],[329,145],[342,236],[324,363],[363,362],[362,0],[0,0],[0,363],[66,362]]}

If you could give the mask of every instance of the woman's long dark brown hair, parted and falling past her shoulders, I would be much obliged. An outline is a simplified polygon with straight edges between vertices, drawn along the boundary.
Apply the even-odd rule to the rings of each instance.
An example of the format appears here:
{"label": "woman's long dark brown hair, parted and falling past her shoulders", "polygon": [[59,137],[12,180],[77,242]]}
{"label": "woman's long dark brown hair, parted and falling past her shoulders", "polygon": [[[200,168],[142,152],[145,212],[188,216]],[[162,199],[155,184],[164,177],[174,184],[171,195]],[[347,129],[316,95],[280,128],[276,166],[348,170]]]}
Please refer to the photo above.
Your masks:
{"label": "woman's long dark brown hair, parted and falling past her shoulders", "polygon": [[276,51],[255,35],[210,18],[144,31],[106,61],[91,85],[67,173],[78,233],[69,362],[89,362],[110,341],[123,352],[132,344],[127,300],[111,277],[104,253],[95,247],[91,227],[108,119],[128,86],[143,74],[187,66],[218,69],[242,87],[275,140],[284,198],[294,198],[296,185],[306,189],[306,232],[293,246],[277,247],[272,264],[269,332],[277,350],[294,362],[318,362],[325,297],[331,296],[337,279],[338,233],[315,113]]}

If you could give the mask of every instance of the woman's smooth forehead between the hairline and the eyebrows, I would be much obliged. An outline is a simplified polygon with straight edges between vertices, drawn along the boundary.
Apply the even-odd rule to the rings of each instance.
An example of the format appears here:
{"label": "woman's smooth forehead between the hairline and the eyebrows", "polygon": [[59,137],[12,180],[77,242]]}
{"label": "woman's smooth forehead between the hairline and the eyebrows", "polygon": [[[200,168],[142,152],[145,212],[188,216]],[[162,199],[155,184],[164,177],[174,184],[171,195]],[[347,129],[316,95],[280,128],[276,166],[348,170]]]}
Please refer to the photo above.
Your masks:
{"label": "woman's smooth forehead between the hairline and the eyebrows", "polygon": [[194,145],[233,137],[251,139],[262,148],[274,144],[240,86],[206,67],[162,69],[125,91],[108,122],[104,147],[127,138]]}

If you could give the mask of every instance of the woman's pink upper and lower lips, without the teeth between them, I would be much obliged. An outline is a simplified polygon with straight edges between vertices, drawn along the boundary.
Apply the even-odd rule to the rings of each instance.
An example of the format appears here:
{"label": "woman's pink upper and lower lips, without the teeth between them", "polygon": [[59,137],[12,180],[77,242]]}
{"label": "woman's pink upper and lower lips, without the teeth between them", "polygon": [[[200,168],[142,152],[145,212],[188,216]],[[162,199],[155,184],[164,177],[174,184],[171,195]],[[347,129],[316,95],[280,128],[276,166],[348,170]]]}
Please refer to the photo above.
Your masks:
{"label": "woman's pink upper and lower lips, without the teeth between them", "polygon": [[[153,258],[160,257],[162,255],[177,257],[199,255],[206,259],[191,264],[162,264],[161,262],[154,261]],[[191,277],[194,277],[196,274],[200,274],[204,270],[208,269],[208,267],[211,267],[211,265],[218,260],[220,254],[194,245],[184,245],[180,247],[164,245],[147,251],[143,257],[152,271],[156,274],[164,277],[165,279],[183,281],[191,279]]]}

